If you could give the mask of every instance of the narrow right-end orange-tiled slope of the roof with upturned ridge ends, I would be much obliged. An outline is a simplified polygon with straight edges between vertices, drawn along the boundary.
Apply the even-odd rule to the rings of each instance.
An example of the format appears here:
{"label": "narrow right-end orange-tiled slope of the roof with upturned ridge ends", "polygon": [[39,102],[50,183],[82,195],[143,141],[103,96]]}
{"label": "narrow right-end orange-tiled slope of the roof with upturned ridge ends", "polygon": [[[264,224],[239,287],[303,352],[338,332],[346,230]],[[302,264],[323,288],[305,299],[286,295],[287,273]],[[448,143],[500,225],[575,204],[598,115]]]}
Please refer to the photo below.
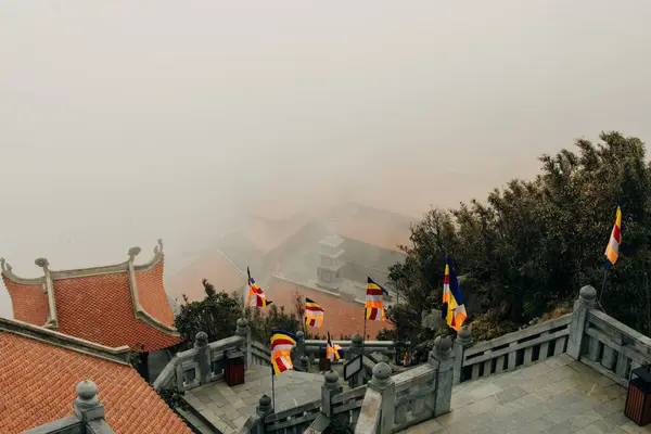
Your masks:
{"label": "narrow right-end orange-tiled slope of the roof with upturned ridge ends", "polygon": [[163,286],[163,268],[164,261],[159,260],[149,270],[136,271],[138,298],[144,311],[157,321],[174,327],[174,314]]}

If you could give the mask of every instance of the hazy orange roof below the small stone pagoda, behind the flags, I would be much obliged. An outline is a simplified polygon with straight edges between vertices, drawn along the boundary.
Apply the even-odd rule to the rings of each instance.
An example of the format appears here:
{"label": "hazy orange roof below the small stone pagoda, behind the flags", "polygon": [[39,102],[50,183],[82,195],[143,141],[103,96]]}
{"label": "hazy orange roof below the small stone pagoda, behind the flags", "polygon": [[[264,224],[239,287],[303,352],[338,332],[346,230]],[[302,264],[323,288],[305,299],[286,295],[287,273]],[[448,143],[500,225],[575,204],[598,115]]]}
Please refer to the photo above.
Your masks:
{"label": "hazy orange roof below the small stone pagoda, behind the flags", "polygon": [[[311,329],[312,332],[324,335],[328,331],[336,339],[340,335],[352,336],[355,333],[363,334],[363,314],[362,304],[348,302],[326,292],[317,291],[303,285],[297,285],[286,280],[273,277],[268,289],[263,289],[268,293],[268,297],[278,307],[284,306],[285,311],[294,311],[294,292],[315,301],[326,310],[323,326],[318,329]],[[393,324],[386,321],[367,321],[367,334],[370,340],[374,340],[378,332],[382,329],[393,329]]]}

